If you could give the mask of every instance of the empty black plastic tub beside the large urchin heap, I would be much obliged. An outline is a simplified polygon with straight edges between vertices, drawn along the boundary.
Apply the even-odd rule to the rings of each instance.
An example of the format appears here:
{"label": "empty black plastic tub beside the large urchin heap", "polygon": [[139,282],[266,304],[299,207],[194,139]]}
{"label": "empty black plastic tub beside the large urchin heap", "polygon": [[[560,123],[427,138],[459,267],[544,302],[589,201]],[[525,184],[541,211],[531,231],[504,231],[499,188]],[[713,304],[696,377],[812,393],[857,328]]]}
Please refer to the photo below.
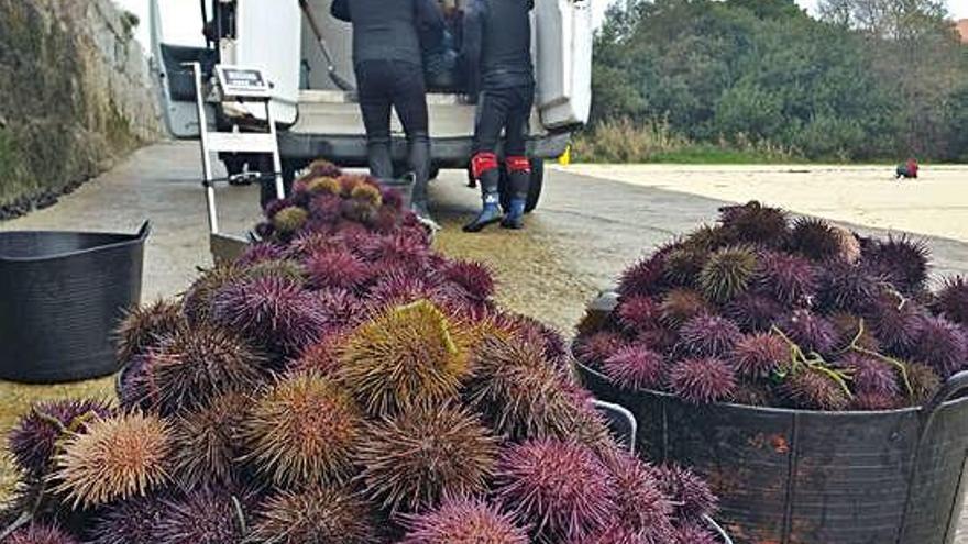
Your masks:
{"label": "empty black plastic tub beside the large urchin heap", "polygon": [[0,379],[52,384],[118,370],[111,332],[141,299],[135,234],[0,232]]}

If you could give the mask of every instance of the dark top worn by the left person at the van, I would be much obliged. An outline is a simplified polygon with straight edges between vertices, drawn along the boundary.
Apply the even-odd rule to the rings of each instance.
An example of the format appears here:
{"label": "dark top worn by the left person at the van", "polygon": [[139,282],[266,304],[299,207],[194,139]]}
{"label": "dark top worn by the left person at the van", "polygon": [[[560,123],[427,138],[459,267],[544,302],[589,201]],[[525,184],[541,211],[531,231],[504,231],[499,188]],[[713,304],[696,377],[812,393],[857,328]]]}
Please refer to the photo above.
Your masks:
{"label": "dark top worn by the left person at the van", "polygon": [[353,24],[353,63],[403,60],[419,65],[420,42],[443,38],[433,0],[334,0],[330,13]]}

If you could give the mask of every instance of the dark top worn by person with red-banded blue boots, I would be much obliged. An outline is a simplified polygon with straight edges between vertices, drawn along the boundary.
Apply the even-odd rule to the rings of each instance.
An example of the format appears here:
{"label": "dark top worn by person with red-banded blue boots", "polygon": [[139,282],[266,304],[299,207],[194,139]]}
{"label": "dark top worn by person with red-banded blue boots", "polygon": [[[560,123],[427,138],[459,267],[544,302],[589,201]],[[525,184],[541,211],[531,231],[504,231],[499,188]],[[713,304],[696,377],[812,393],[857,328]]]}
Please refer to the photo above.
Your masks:
{"label": "dark top worn by person with red-banded blue boots", "polygon": [[464,12],[461,56],[468,92],[534,85],[534,0],[472,0]]}

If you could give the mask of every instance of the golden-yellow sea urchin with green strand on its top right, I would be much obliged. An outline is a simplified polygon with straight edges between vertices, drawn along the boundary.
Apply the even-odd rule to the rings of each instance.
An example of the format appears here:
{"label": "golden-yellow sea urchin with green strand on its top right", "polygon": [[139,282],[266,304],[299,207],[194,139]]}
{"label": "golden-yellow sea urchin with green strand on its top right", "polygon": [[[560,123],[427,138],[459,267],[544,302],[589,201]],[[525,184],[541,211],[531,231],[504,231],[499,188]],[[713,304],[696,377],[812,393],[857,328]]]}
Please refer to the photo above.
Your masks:
{"label": "golden-yellow sea urchin with green strand on its top right", "polygon": [[470,376],[464,324],[420,300],[392,308],[354,331],[342,349],[342,381],[373,415],[457,398]]}

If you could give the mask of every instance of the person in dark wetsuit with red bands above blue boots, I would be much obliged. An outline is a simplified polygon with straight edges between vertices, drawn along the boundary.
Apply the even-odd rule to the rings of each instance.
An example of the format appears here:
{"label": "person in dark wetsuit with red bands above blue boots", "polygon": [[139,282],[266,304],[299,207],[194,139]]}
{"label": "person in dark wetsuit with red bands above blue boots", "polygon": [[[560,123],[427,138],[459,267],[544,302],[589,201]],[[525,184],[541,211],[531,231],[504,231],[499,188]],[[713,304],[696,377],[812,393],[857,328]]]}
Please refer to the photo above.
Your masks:
{"label": "person in dark wetsuit with red bands above blue boots", "polygon": [[[501,221],[506,229],[524,227],[525,202],[531,181],[526,156],[528,116],[535,97],[531,65],[534,0],[472,0],[464,14],[462,56],[469,93],[477,99],[471,170],[481,185],[483,208],[465,232],[480,232]],[[504,131],[505,166],[510,206],[502,218],[497,147]]]}

